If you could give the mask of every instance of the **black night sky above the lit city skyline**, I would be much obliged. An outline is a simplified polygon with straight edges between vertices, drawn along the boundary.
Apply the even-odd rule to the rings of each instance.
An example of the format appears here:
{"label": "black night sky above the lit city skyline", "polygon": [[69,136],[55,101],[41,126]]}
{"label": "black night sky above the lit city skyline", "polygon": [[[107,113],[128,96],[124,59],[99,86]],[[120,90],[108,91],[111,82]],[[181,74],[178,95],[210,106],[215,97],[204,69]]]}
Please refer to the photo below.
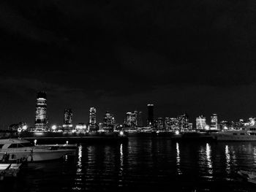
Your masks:
{"label": "black night sky above the lit city skyline", "polygon": [[[256,2],[221,0],[1,0],[0,126],[34,126],[38,91],[49,125],[72,108],[97,122],[154,104],[155,117],[187,112],[256,116]],[[144,122],[145,123],[145,122]]]}

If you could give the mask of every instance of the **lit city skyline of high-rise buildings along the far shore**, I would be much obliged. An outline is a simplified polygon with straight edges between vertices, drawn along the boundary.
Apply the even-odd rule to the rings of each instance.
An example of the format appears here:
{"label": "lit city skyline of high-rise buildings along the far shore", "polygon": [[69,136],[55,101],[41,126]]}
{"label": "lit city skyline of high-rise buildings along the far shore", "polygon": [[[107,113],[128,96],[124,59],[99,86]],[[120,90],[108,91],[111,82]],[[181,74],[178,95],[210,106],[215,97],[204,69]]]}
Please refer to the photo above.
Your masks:
{"label": "lit city skyline of high-rise buildings along the far shore", "polygon": [[[189,118],[189,115],[187,113],[182,114],[176,114],[176,116],[154,116],[154,104],[147,104],[147,112],[146,115],[143,115],[142,111],[135,110],[134,112],[126,112],[126,115],[124,115],[123,121],[116,120],[115,115],[113,113],[110,113],[109,111],[105,112],[105,115],[102,117],[102,119],[98,116],[99,120],[97,121],[97,110],[95,107],[90,107],[89,110],[89,119],[88,121],[80,121],[79,123],[73,123],[73,112],[72,109],[64,109],[64,120],[63,124],[56,123],[56,121],[51,122],[49,124],[48,122],[48,115],[47,115],[47,93],[45,91],[39,91],[37,93],[36,97],[36,112],[35,112],[35,123],[34,126],[32,124],[29,124],[26,126],[29,126],[29,128],[34,128],[36,131],[40,130],[46,130],[50,129],[52,126],[58,126],[64,128],[64,130],[72,130],[75,128],[75,125],[80,125],[80,123],[83,123],[84,125],[87,125],[90,131],[97,131],[99,130],[99,124],[102,124],[104,130],[113,130],[112,126],[116,125],[122,125],[124,127],[141,127],[141,126],[150,126],[151,128],[159,128],[164,126],[170,126],[169,121],[174,120],[179,123],[179,127],[181,129],[183,128],[196,128],[196,129],[219,129],[219,122],[222,121],[230,121],[230,123],[233,121],[234,123],[240,122],[242,118],[239,118],[239,120],[225,120],[219,118],[217,113],[212,113],[209,118],[207,118],[204,115],[199,115],[199,117],[196,117],[195,119]],[[144,116],[144,118],[142,118]],[[247,117],[245,118],[244,122],[246,120],[250,120],[253,117]],[[143,122],[144,119],[144,122]],[[219,120],[221,119],[221,120]],[[173,122],[174,122],[173,121]],[[20,121],[22,124],[23,122],[26,122],[26,120]],[[98,123],[97,123],[98,122]],[[20,123],[12,123],[10,126],[18,126]],[[172,123],[171,123],[172,124]],[[206,128],[207,127],[207,128]],[[159,128],[160,130],[162,128]],[[11,128],[12,129],[12,128]]]}

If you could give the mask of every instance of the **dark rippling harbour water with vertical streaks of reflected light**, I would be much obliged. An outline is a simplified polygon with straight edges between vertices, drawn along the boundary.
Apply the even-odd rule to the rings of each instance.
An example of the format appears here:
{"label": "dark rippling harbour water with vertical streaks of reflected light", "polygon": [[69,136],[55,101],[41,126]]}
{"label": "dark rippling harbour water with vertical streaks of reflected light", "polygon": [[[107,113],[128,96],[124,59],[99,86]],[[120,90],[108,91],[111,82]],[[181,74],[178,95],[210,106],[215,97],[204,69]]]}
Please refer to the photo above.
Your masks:
{"label": "dark rippling harbour water with vertical streaks of reflected light", "polygon": [[256,142],[172,142],[129,137],[84,145],[76,157],[29,164],[0,191],[256,191],[236,174],[256,171]]}

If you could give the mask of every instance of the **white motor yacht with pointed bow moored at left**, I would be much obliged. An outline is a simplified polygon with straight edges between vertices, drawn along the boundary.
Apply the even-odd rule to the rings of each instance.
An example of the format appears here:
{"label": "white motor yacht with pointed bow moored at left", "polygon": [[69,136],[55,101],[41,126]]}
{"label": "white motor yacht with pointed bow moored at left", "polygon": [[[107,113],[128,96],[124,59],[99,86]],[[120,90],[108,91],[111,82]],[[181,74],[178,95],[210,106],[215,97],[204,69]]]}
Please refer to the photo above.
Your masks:
{"label": "white motor yacht with pointed bow moored at left", "polygon": [[8,161],[20,158],[26,158],[28,162],[48,161],[74,154],[73,149],[33,146],[25,139],[0,139],[0,159],[8,155]]}

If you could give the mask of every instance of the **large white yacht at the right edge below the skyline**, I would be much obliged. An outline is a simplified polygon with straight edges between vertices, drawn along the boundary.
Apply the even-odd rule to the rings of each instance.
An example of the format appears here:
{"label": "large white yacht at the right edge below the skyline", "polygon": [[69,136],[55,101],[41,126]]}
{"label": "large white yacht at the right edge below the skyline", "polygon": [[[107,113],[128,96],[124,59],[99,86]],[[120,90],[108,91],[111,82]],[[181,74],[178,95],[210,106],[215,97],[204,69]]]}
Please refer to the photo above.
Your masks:
{"label": "large white yacht at the right edge below the skyline", "polygon": [[211,134],[217,141],[256,141],[256,126],[225,130]]}

